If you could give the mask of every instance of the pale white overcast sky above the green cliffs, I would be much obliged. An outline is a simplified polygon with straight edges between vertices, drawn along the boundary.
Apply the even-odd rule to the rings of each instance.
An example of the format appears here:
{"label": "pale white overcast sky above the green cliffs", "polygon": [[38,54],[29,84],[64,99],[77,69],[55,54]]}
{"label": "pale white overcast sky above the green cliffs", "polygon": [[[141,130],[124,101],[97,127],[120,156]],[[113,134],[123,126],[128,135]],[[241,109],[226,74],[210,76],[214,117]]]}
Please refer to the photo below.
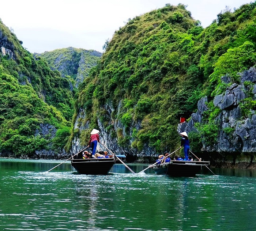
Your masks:
{"label": "pale white overcast sky above the green cliffs", "polygon": [[188,5],[192,17],[211,24],[229,6],[233,11],[250,0],[1,0],[0,18],[12,27],[23,47],[42,53],[58,48],[102,52],[105,41],[129,18],[162,8]]}

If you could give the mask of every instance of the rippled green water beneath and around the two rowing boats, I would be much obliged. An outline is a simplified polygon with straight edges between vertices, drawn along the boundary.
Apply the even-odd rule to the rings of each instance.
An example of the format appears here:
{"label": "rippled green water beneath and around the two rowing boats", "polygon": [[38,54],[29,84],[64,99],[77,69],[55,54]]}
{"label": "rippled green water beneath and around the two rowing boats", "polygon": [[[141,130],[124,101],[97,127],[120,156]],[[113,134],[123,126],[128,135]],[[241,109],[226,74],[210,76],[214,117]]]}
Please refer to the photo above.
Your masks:
{"label": "rippled green water beneath and around the two rowing boats", "polygon": [[[172,178],[79,175],[61,162],[0,159],[0,230],[256,230],[255,171]],[[135,172],[147,165],[129,165]]]}

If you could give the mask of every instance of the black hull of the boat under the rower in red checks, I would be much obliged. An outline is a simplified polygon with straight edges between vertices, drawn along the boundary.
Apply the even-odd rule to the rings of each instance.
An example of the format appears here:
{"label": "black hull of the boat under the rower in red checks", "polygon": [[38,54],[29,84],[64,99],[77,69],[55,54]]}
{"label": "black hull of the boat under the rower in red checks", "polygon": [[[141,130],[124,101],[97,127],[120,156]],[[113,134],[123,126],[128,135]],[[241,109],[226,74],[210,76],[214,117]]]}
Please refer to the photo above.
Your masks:
{"label": "black hull of the boat under the rower in red checks", "polygon": [[80,174],[106,175],[115,163],[114,158],[72,159],[71,165]]}

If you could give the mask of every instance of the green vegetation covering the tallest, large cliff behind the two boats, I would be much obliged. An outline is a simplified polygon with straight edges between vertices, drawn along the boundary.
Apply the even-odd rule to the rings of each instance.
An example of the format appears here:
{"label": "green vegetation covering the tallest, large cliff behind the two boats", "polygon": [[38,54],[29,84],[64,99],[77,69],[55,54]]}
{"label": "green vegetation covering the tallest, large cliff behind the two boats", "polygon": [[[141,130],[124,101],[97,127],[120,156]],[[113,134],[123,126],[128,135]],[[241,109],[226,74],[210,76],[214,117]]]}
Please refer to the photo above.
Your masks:
{"label": "green vegetation covering the tallest, large cliff behind the two boats", "polygon": [[[228,74],[237,82],[237,72],[255,65],[255,36],[256,3],[234,12],[226,9],[205,29],[182,4],[166,4],[137,16],[106,42],[101,63],[78,92],[76,113],[84,108],[84,122],[89,120],[91,128],[97,126],[97,117],[102,118],[105,129],[115,133],[123,147],[133,139],[132,148],[138,150],[144,144],[158,152],[174,149],[180,116],[188,118],[202,96],[211,101],[222,93],[226,85],[221,76]],[[112,121],[104,121],[103,106],[109,102],[116,110]],[[208,117],[212,123],[201,127],[202,135],[208,129],[216,133],[213,115],[217,116]],[[125,134],[113,130],[116,119]]]}

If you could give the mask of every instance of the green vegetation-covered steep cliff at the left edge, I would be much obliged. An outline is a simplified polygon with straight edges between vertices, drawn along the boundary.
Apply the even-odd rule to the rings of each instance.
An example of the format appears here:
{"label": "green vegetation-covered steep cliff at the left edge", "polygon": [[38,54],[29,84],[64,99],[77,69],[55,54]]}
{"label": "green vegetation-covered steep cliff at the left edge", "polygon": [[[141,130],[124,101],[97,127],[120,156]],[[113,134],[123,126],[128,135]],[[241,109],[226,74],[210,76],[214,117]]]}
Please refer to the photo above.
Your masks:
{"label": "green vegetation-covered steep cliff at the left edge", "polygon": [[[41,125],[65,131],[56,133],[56,137],[65,140],[70,135],[74,114],[74,93],[69,90],[71,79],[61,77],[59,71],[51,71],[43,58],[35,58],[21,44],[0,20],[0,152],[3,155],[34,155],[36,150],[63,148],[63,142],[57,144],[52,140],[53,131],[42,133]],[[2,56],[3,49],[7,54]],[[14,55],[10,57],[9,53]]]}

